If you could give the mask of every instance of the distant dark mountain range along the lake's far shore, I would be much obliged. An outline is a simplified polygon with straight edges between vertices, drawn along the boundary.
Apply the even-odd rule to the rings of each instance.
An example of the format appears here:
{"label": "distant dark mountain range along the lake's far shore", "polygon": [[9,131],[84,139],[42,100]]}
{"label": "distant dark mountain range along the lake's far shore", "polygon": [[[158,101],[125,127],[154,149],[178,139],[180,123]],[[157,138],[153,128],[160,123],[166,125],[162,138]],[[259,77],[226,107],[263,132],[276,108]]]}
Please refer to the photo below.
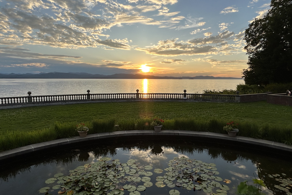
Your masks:
{"label": "distant dark mountain range along the lake's far shore", "polygon": [[0,73],[0,79],[241,79],[235,77],[213,77],[213,76],[195,76],[195,77],[158,77],[144,74],[89,74],[85,72],[50,72],[39,74],[20,74],[20,73]]}

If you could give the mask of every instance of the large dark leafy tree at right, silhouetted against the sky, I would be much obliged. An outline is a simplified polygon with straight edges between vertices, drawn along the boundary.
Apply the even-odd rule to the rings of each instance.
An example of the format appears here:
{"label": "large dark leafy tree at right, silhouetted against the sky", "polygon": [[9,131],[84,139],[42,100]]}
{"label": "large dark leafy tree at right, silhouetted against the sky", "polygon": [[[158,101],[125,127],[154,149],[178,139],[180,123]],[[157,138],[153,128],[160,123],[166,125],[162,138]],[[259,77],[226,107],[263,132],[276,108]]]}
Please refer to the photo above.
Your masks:
{"label": "large dark leafy tree at right, silhouetted against the sky", "polygon": [[246,84],[292,82],[292,0],[272,0],[271,9],[245,31],[249,55]]}

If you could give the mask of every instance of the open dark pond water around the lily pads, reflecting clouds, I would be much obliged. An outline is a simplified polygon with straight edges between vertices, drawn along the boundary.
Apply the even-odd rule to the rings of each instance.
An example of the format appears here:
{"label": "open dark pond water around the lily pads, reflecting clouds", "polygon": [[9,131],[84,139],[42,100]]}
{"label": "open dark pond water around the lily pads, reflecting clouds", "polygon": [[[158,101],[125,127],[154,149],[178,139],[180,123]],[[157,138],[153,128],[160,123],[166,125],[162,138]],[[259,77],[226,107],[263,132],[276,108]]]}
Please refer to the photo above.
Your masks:
{"label": "open dark pond water around the lily pads, reflecting clouds", "polygon": [[[129,142],[131,145],[129,145]],[[111,145],[111,146],[109,146]],[[189,159],[202,161],[201,163],[214,163],[217,168],[217,173],[214,176],[220,177],[223,180],[228,179],[230,182],[218,181],[221,185],[227,185],[229,190],[227,194],[236,194],[237,186],[240,182],[248,180],[249,184],[253,184],[252,179],[261,178],[266,187],[262,190],[267,195],[280,195],[286,192],[279,190],[275,185],[280,182],[268,175],[280,174],[281,178],[292,180],[292,163],[281,159],[263,156],[261,153],[250,153],[253,149],[245,149],[244,151],[231,150],[236,146],[224,146],[212,143],[210,146],[206,143],[194,143],[194,141],[183,140],[160,140],[159,144],[153,140],[131,140],[120,141],[118,143],[101,143],[89,146],[76,146],[62,151],[54,151],[51,153],[43,153],[27,159],[19,159],[16,162],[2,164],[0,167],[0,194],[6,195],[32,195],[45,194],[39,193],[43,187],[50,187],[49,194],[58,194],[57,190],[52,187],[57,185],[56,180],[52,184],[46,184],[45,181],[53,178],[57,173],[63,173],[64,176],[70,175],[70,170],[83,166],[85,164],[93,165],[101,157],[110,157],[111,159],[119,159],[120,163],[127,163],[129,159],[135,159],[135,164],[139,169],[144,169],[144,166],[151,165],[153,168],[145,171],[150,171],[153,175],[149,176],[152,187],[147,187],[145,191],[141,191],[141,195],[168,195],[172,189],[179,190],[180,194],[202,194],[206,193],[203,190],[188,190],[182,187],[157,187],[155,185],[157,176],[165,176],[166,168],[171,166],[172,159],[175,157],[185,156]],[[272,154],[271,156],[275,156]],[[211,165],[210,165],[211,166]],[[214,166],[214,165],[213,165]],[[130,166],[129,166],[130,167]],[[154,169],[160,168],[162,173],[155,173]],[[132,169],[130,167],[130,169]],[[282,173],[285,174],[282,175]],[[202,174],[202,173],[200,173]],[[127,174],[126,174],[127,175]],[[137,175],[135,177],[144,177],[145,175]],[[279,178],[279,177],[278,177]],[[209,179],[210,180],[210,179]],[[210,180],[210,181],[214,181]],[[176,183],[177,180],[173,180]],[[193,181],[194,184],[199,184]],[[143,185],[143,181],[130,182],[122,181],[117,184],[121,188],[125,184],[134,186]],[[220,189],[215,187],[213,192]],[[287,188],[288,190],[288,188]],[[129,191],[124,190],[125,195],[129,195]],[[288,192],[291,193],[291,188]],[[287,193],[288,194],[288,193]]]}

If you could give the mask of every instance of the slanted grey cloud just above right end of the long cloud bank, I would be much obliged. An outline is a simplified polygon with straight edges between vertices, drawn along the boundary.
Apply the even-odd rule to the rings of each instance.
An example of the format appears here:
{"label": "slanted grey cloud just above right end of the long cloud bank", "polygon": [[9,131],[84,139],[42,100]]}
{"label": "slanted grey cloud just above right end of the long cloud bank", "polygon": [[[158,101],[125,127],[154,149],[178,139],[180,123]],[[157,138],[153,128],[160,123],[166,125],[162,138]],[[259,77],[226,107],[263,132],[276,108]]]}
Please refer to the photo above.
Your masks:
{"label": "slanted grey cloud just above right end of the long cloud bank", "polygon": [[209,36],[209,37],[205,37],[205,38],[198,38],[198,39],[189,40],[189,43],[192,43],[194,45],[224,43],[224,42],[226,42],[226,39],[229,39],[233,35],[234,35],[234,32],[229,32],[228,30],[226,30],[223,33],[219,33],[216,36]]}

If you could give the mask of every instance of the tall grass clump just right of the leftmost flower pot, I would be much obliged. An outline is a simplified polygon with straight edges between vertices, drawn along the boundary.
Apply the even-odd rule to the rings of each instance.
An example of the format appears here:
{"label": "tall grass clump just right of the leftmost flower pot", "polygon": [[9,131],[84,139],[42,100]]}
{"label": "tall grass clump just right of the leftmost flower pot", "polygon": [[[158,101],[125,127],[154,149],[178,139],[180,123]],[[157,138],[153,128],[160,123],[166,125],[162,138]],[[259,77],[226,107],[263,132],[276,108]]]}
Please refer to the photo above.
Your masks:
{"label": "tall grass clump just right of the leftmost flower pot", "polygon": [[111,132],[115,127],[115,122],[116,120],[114,118],[94,119],[92,121],[92,131],[88,132],[90,134]]}

